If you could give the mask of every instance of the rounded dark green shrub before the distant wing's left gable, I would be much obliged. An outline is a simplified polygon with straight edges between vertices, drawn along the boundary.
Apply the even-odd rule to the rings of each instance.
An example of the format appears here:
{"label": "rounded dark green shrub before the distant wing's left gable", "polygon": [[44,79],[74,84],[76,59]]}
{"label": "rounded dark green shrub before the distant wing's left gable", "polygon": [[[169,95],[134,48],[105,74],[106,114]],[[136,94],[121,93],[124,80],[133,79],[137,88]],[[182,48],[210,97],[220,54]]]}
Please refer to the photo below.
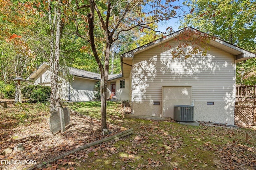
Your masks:
{"label": "rounded dark green shrub before the distant wing's left gable", "polygon": [[51,95],[51,87],[41,85],[28,85],[22,89],[22,94],[30,103],[48,102]]}

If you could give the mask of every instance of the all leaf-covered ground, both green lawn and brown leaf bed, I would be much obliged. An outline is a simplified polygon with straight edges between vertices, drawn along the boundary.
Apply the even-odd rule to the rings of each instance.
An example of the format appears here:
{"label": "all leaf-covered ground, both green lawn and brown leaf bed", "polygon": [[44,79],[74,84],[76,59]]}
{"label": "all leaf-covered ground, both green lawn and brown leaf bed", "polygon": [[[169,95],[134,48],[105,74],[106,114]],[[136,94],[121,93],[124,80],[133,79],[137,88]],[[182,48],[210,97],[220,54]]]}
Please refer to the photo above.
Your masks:
{"label": "all leaf-covered ground, both green lawn and brown leaf bed", "polygon": [[[100,102],[68,103],[66,105],[81,114],[100,118]],[[88,123],[86,117],[73,113],[71,119],[76,122],[76,125],[71,126],[64,134],[55,135],[54,137],[58,137],[58,140],[53,143],[51,141],[53,135],[49,133],[46,123],[48,116],[44,113],[48,112],[45,109],[47,106],[29,105],[26,107],[29,109],[25,111],[24,108],[19,109],[17,106],[12,108],[14,112],[19,113],[18,115],[23,114],[22,110],[25,115],[28,114],[28,118],[25,119],[18,119],[14,116],[17,115],[16,113],[10,113],[9,118],[4,118],[2,110],[0,112],[0,151],[7,145],[13,147],[17,143],[25,143],[26,148],[22,153],[13,152],[5,157],[1,156],[1,160],[32,158],[38,160],[39,163],[56,154],[67,152],[78,145],[84,145],[102,137],[97,129],[100,125],[98,121],[90,119]],[[42,107],[41,111],[40,107]],[[37,115],[30,113],[33,109],[37,109]],[[122,119],[122,107],[115,102],[108,102],[107,112],[109,122],[126,128],[134,128],[134,134],[66,156],[42,169],[256,169],[255,129],[212,126],[208,123],[201,123],[199,127],[196,127],[181,125],[172,120]],[[33,118],[30,119],[30,117]],[[3,124],[3,118],[6,119],[5,124]],[[38,124],[41,121],[45,123],[41,125],[42,127]],[[82,127],[86,125],[92,126],[88,126],[87,129]],[[120,129],[116,129],[116,133],[118,130]],[[115,132],[111,129],[110,131]],[[38,135],[32,137],[33,133],[44,134],[44,137]],[[246,133],[248,134],[247,142]],[[18,137],[16,137],[17,134],[19,134]],[[69,140],[72,143],[68,142]],[[37,146],[34,148],[35,153],[30,150],[30,147],[34,145]],[[49,147],[49,145],[54,146]],[[7,166],[1,165],[1,167],[4,169]]]}

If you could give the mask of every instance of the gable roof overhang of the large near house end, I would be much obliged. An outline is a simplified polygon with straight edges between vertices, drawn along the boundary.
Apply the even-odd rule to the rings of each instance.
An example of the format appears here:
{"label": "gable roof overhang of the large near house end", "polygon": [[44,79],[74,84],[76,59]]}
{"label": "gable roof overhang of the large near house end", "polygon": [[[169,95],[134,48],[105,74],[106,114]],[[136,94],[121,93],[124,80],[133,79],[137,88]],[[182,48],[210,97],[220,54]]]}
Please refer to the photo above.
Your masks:
{"label": "gable roof overhang of the large near house end", "polygon": [[[160,39],[157,39],[156,41],[152,41],[146,45],[143,45],[141,47],[138,47],[136,49],[128,51],[128,52],[122,54],[121,57],[124,57],[124,58],[134,57],[135,54],[141,53],[145,50],[156,47],[157,45],[160,45],[162,43],[165,43],[167,41],[174,39],[177,35],[179,35],[180,33],[182,33],[183,31],[185,31],[187,29],[190,29],[191,31],[198,31],[192,27],[186,27],[186,28],[180,29],[179,31],[176,31],[170,35],[167,35],[166,37],[162,37]],[[200,32],[203,33],[202,31],[200,31]],[[240,47],[237,47],[235,45],[232,45],[232,44],[230,44],[226,41],[223,41],[221,39],[218,39],[218,38],[216,38],[215,40],[210,40],[209,44],[218,49],[221,49],[223,51],[226,51],[226,52],[236,56],[236,63],[256,57],[256,54],[254,54],[250,51],[247,51],[245,49],[242,49]]]}

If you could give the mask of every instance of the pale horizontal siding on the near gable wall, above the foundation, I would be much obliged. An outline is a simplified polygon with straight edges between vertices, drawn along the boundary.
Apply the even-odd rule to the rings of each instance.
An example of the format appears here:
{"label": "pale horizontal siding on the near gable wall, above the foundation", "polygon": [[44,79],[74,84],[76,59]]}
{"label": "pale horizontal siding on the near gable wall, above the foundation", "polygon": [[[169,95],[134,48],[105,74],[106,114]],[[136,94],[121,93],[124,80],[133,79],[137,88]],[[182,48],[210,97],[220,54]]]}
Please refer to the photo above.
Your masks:
{"label": "pale horizontal siding on the near gable wall, above the foundation", "polygon": [[234,56],[210,48],[207,56],[198,54],[188,59],[172,59],[164,45],[135,55],[132,101],[161,101],[162,86],[192,86],[191,97],[196,102],[233,102]]}

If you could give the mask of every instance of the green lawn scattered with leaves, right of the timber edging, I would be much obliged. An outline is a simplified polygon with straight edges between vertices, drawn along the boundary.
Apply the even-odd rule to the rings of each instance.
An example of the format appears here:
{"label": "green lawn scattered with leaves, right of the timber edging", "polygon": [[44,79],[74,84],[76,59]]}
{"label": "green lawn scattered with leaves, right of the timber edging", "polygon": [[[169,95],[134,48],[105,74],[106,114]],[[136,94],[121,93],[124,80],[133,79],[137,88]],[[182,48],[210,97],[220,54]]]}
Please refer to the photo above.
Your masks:
{"label": "green lawn scattered with leaves, right of the timber edging", "polygon": [[[100,119],[100,102],[68,103]],[[108,122],[134,128],[134,134],[83,151],[76,169],[256,169],[256,131],[189,126],[172,121],[122,119],[121,104],[108,102]],[[245,143],[246,133],[248,142]],[[82,154],[82,153],[78,153]]]}

